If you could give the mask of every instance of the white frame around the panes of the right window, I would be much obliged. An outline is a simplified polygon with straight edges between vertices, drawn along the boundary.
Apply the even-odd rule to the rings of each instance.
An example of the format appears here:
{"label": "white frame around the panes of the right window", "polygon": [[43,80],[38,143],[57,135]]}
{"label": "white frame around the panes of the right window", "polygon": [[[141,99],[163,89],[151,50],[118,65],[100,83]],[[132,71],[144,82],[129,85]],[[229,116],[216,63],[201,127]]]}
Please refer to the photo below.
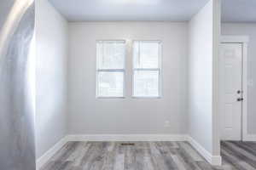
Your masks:
{"label": "white frame around the panes of the right window", "polygon": [[[158,62],[158,68],[156,69],[147,69],[147,68],[135,68],[135,56],[134,56],[134,43],[135,42],[158,42],[159,43],[159,62]],[[160,99],[162,98],[162,50],[163,45],[162,41],[160,40],[134,40],[132,42],[132,98],[134,99]],[[136,96],[134,94],[134,72],[135,71],[159,71],[159,81],[158,81],[158,96]]]}

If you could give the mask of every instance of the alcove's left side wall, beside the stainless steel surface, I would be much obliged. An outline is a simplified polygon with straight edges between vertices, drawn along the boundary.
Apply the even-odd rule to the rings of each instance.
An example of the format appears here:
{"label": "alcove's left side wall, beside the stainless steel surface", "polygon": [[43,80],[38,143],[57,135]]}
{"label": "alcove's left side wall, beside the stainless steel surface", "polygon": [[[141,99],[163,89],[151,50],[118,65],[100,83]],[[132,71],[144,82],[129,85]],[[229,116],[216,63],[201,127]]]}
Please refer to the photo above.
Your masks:
{"label": "alcove's left side wall, beside the stainless steel surface", "polygon": [[36,2],[37,158],[67,133],[67,29],[47,0]]}

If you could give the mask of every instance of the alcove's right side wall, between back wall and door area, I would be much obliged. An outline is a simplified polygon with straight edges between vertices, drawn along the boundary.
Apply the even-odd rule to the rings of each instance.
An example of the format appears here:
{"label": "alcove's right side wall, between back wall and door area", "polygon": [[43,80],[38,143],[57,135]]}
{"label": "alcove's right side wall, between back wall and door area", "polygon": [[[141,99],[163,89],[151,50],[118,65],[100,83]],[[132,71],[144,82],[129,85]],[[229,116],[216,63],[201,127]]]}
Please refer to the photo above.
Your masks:
{"label": "alcove's right side wall, between back wall and door area", "polygon": [[213,155],[213,8],[209,1],[189,21],[189,135]]}

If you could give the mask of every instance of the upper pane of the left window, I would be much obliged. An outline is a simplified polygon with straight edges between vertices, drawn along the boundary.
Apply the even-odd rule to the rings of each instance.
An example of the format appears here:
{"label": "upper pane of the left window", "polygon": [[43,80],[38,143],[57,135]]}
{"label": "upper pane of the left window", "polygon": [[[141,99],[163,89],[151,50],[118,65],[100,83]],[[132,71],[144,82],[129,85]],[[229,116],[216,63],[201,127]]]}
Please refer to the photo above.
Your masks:
{"label": "upper pane of the left window", "polygon": [[123,69],[125,67],[125,42],[97,42],[98,69]]}

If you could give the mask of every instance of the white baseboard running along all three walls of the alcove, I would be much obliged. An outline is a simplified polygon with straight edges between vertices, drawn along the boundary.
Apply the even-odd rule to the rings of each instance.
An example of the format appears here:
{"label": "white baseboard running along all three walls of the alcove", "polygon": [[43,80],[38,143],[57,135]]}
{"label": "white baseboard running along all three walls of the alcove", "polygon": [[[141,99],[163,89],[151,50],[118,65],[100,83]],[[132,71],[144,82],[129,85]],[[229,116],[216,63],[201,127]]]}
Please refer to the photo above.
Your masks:
{"label": "white baseboard running along all three walls of the alcove", "polygon": [[201,144],[186,134],[72,134],[61,139],[37,160],[37,169],[69,141],[188,141],[212,165],[221,165],[221,156],[212,156]]}

